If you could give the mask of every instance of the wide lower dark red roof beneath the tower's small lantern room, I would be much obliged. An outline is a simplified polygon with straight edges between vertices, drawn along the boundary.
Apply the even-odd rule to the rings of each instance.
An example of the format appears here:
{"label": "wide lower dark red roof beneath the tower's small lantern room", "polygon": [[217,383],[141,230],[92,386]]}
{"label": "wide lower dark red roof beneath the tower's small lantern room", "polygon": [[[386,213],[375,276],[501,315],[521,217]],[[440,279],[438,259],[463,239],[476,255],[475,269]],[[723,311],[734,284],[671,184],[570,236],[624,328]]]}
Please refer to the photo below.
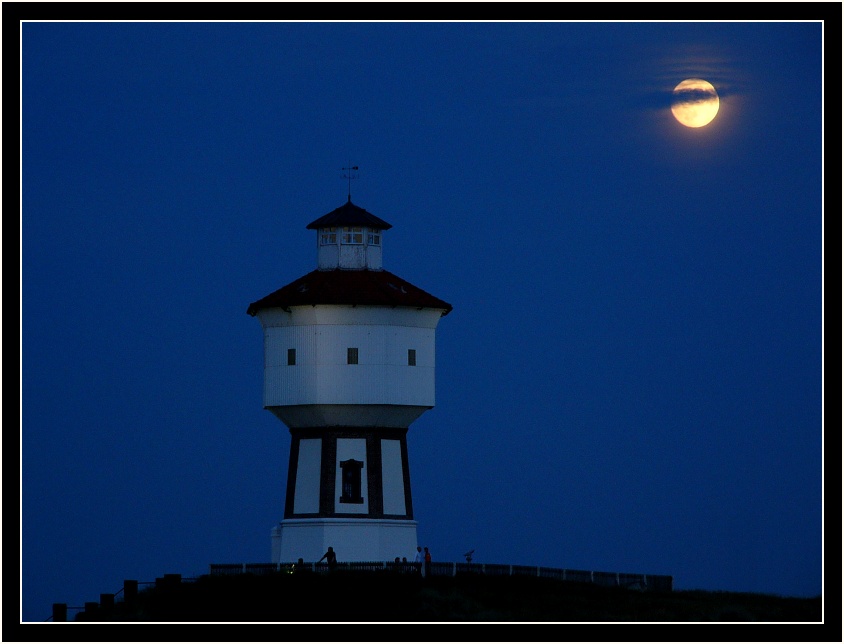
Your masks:
{"label": "wide lower dark red roof beneath the tower's small lantern room", "polygon": [[[364,211],[366,212],[366,211]],[[380,220],[379,220],[380,221]],[[389,225],[389,224],[387,224]],[[317,304],[411,306],[442,309],[452,306],[389,271],[315,270],[249,305],[246,312]]]}

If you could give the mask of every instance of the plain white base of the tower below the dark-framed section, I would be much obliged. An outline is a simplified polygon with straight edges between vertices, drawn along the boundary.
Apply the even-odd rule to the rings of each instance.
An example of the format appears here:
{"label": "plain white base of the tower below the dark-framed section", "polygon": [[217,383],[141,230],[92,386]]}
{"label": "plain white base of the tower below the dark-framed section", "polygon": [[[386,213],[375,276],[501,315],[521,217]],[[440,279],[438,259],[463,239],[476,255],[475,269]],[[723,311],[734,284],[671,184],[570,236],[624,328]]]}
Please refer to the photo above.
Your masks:
{"label": "plain white base of the tower below the dark-framed section", "polygon": [[272,529],[272,563],[318,561],[328,546],[337,561],[394,561],[416,557],[416,521],[285,519]]}

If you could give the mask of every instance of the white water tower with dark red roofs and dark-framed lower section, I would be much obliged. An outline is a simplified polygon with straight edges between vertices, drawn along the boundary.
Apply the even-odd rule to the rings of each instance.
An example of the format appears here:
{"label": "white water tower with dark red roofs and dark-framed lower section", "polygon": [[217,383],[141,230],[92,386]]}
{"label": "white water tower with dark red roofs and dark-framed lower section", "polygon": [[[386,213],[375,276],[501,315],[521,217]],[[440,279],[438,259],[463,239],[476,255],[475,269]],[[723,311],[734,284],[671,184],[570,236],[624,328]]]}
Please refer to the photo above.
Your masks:
{"label": "white water tower with dark red roofs and dark-framed lower section", "polygon": [[407,431],[434,406],[435,331],[452,307],[382,268],[392,226],[352,203],[308,224],[317,269],[249,305],[264,408],[290,430],[272,561],[416,552]]}

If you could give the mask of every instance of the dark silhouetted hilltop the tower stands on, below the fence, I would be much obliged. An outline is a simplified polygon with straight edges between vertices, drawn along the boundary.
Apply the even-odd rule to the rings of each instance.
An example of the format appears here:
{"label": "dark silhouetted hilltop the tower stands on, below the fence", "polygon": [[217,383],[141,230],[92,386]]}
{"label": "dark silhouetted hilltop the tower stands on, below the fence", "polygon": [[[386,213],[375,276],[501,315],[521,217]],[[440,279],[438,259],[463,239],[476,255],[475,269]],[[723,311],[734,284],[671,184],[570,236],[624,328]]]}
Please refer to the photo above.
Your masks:
{"label": "dark silhouetted hilltop the tower stands on, below the fence", "polygon": [[641,591],[539,577],[309,571],[163,583],[75,621],[820,622],[821,597]]}

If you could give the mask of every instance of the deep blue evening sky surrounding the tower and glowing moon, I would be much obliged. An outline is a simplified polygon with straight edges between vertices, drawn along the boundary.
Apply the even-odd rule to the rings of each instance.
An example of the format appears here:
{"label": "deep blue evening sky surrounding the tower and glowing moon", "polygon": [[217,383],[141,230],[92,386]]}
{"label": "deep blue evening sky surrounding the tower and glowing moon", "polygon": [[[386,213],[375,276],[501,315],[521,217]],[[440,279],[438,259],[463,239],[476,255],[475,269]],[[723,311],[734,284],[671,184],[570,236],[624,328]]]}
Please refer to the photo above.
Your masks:
{"label": "deep blue evening sky surrounding the tower and glowing moon", "polygon": [[246,307],[316,268],[349,163],[384,268],[454,306],[408,435],[435,560],[821,593],[821,23],[22,42],[25,621],[269,560],[290,441]]}

